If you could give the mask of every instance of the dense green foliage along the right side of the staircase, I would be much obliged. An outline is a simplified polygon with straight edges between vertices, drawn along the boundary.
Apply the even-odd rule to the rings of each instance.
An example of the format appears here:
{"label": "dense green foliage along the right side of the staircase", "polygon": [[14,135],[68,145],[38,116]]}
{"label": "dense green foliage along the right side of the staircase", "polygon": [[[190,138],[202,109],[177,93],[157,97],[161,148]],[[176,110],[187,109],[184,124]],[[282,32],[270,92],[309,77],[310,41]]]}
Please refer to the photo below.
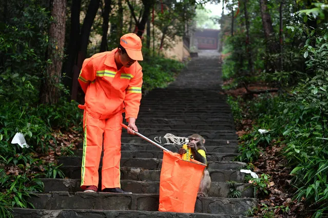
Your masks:
{"label": "dense green foliage along the right side of the staircase", "polygon": [[[223,76],[234,81],[226,89],[237,88],[243,82],[265,82],[280,89],[277,95],[261,94],[247,102],[238,99],[229,103],[237,121],[245,118],[256,123],[252,133],[240,138],[238,160],[256,161],[261,147],[271,146],[273,140],[276,145],[281,144],[284,147],[281,155],[293,169],[295,198],[305,199],[308,209],[314,211],[313,217],[322,217],[328,211],[328,6],[326,2],[317,2],[283,2],[281,41],[278,40],[281,2],[267,2],[275,31],[271,36],[277,45],[275,51],[268,50],[270,41],[264,39],[258,2],[248,2],[247,10],[252,14],[248,20],[251,42],[248,49],[252,52],[254,71],[247,68],[245,17],[241,15],[235,19],[234,36],[227,31],[229,22],[222,26],[226,35],[224,52],[229,54],[224,59]],[[226,8],[231,8],[231,3]],[[269,132],[261,135],[259,128]],[[266,194],[265,177],[249,178],[263,194]],[[274,217],[277,209],[288,211],[284,206],[262,205],[261,215]]]}

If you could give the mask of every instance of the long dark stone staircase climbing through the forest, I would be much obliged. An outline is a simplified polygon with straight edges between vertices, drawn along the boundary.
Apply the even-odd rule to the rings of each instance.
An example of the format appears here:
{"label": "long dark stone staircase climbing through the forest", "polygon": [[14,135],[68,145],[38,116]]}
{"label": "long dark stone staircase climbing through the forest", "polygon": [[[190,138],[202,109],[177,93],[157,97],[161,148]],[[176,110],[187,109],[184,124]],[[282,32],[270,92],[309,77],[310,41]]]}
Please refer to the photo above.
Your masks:
{"label": "long dark stone staircase climbing through the forest", "polygon": [[[45,192],[29,201],[35,209],[14,208],[14,217],[244,217],[257,201],[239,171],[246,164],[231,162],[238,155],[238,141],[226,97],[219,94],[221,83],[218,56],[194,58],[168,88],[143,97],[137,120],[139,132],[150,139],[166,133],[198,133],[206,139],[212,184],[210,197],[197,199],[195,213],[158,212],[163,152],[123,129],[121,186],[132,194],[82,192],[79,148],[76,157],[58,160],[69,179],[43,179]],[[162,145],[178,151],[174,145]],[[227,181],[236,182],[241,198],[229,198]]]}

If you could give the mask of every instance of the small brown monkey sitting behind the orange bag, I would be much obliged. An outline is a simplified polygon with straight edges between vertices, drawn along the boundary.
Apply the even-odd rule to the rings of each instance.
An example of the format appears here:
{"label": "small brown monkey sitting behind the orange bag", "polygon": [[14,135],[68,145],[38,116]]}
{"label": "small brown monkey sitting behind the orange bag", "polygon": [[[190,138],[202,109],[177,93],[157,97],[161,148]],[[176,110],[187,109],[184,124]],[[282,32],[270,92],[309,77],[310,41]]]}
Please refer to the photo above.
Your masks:
{"label": "small brown monkey sitting behind the orange bag", "polygon": [[[205,139],[199,134],[193,134],[188,137],[188,140],[189,142],[187,143],[187,147],[191,148],[191,154],[192,154],[191,158],[207,165],[206,148],[204,146]],[[183,155],[186,152],[187,151],[184,148],[179,149],[180,155]],[[202,175],[201,183],[199,185],[197,197],[207,197],[210,185],[211,185],[211,180],[210,180],[209,172],[205,168]]]}

